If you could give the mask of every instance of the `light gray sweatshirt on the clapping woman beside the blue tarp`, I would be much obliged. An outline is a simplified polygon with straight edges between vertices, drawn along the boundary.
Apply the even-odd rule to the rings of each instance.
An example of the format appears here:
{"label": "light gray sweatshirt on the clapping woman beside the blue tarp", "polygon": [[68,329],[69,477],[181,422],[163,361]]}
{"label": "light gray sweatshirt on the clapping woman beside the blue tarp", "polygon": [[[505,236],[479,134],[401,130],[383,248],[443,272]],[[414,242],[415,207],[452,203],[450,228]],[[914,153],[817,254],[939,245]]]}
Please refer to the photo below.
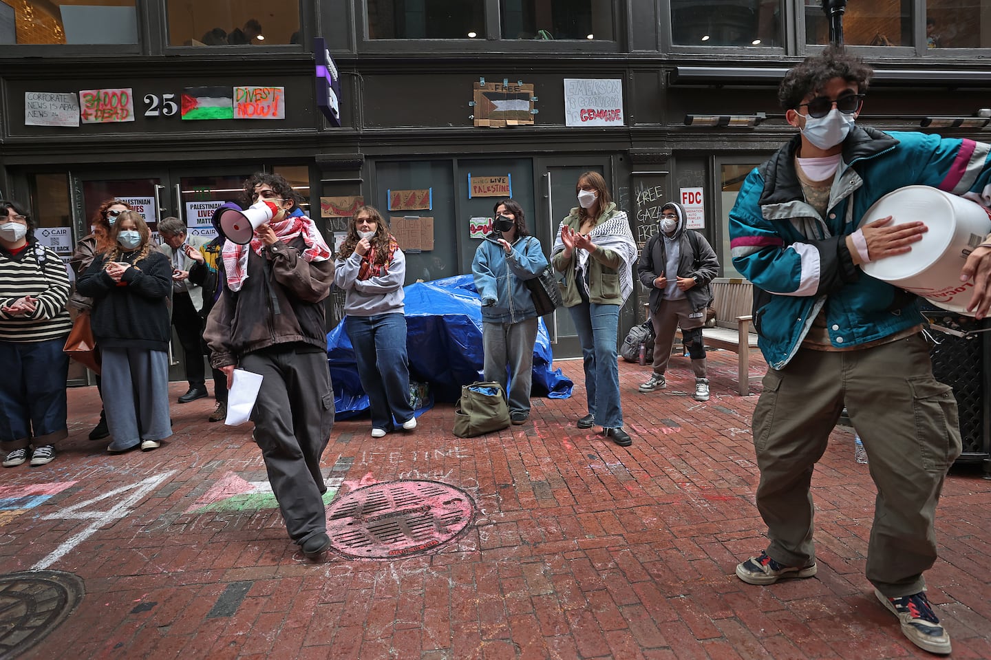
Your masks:
{"label": "light gray sweatshirt on the clapping woman beside the blue tarp", "polygon": [[361,266],[362,257],[358,253],[334,263],[334,284],[345,291],[344,313],[352,316],[403,313],[406,258],[402,251],[396,248],[385,272],[377,277],[358,279]]}

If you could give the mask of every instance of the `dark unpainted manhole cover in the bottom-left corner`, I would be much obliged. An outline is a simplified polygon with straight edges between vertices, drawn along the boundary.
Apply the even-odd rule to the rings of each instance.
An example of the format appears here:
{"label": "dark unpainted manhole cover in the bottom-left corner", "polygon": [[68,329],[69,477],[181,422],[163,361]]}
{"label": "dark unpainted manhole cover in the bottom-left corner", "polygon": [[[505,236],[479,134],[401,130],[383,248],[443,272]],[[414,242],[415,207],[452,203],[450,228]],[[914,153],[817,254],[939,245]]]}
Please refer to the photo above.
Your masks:
{"label": "dark unpainted manhole cover in the bottom-left corner", "polygon": [[84,594],[82,580],[71,573],[0,576],[0,658],[15,658],[45,639]]}

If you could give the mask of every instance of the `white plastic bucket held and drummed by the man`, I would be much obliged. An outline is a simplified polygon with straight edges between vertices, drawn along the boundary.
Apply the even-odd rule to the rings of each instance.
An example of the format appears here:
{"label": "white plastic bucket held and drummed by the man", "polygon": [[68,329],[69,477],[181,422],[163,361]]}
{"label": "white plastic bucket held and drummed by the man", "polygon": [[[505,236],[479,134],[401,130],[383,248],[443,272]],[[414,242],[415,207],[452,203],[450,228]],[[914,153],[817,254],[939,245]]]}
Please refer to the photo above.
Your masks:
{"label": "white plastic bucket held and drummed by the man", "polygon": [[889,192],[864,214],[861,226],[892,216],[894,224],[922,221],[929,228],[912,251],[863,265],[867,275],[923,296],[949,311],[967,311],[972,281],[960,281],[967,257],[991,233],[986,208],[928,185],[908,185]]}

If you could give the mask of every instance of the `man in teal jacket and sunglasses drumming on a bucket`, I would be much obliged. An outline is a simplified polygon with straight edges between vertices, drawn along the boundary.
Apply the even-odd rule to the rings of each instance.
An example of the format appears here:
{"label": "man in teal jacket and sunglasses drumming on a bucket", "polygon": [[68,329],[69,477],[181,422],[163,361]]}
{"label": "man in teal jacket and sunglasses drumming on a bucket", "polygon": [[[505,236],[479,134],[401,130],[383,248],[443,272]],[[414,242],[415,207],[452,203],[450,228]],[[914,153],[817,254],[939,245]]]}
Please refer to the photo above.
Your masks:
{"label": "man in teal jacket and sunglasses drumming on a bucket", "polygon": [[[754,284],[753,324],[770,366],[753,413],[756,502],[770,542],[736,576],[770,585],[816,575],[810,484],[845,405],[878,491],[867,579],[909,640],[944,654],[949,634],[923,573],[936,562],[936,503],[961,451],[956,401],[933,376],[917,297],[860,267],[911,251],[926,231],[865,216],[888,192],[924,184],[986,203],[991,146],[858,126],[872,72],[841,47],[788,71],[778,98],[799,135],[750,172],[729,213],[733,266]],[[985,317],[991,237],[960,279],[973,283],[970,309]]]}

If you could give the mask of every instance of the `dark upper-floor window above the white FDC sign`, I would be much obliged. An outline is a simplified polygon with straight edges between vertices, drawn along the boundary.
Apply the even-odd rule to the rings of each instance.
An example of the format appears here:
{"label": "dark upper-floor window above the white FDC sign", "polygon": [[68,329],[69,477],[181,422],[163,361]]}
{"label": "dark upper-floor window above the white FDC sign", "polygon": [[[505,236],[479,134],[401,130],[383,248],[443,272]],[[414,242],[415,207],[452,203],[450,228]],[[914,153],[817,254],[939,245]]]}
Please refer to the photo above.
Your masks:
{"label": "dark upper-floor window above the white FDC sign", "polygon": [[781,0],[671,0],[671,43],[780,48],[781,4]]}

